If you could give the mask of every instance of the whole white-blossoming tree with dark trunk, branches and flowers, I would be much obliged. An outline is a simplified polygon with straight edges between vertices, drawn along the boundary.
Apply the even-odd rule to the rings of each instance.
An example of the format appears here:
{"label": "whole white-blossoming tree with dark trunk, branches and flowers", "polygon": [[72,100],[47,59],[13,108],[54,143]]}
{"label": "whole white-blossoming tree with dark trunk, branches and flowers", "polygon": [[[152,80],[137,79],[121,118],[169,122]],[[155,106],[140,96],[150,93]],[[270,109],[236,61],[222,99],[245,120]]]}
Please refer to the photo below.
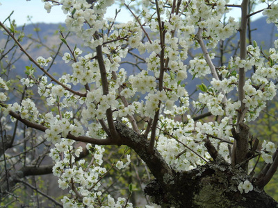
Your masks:
{"label": "whole white-blossoming tree with dark trunk, branches and flowers", "polygon": [[[63,198],[64,207],[133,207],[132,184],[129,196],[120,198],[101,188],[111,168],[123,170],[132,162],[125,152],[105,168],[103,157],[110,145],[127,146],[145,162],[154,176],[145,193],[162,207],[277,206],[263,191],[278,166],[277,148],[248,127],[277,91],[278,41],[268,53],[256,42],[246,43],[252,15],[263,12],[268,23],[277,21],[278,4],[260,2],[265,9],[250,12],[249,0],[239,5],[227,0],[143,0],[138,12],[133,1],[119,1],[134,18],[118,24],[120,11],[114,19],[105,17],[106,8],[117,1],[46,0],[47,12],[60,6],[67,14],[67,29],[92,51],[71,48],[61,33],[68,47],[63,60],[72,70],[58,78],[46,70],[51,58],[31,57],[15,37],[15,28],[0,22],[41,71],[26,67],[22,85],[35,87],[54,109],[46,111],[49,107],[25,97],[9,103],[9,84],[1,79],[1,110],[13,121],[44,132],[43,142],[52,144],[53,174],[60,189],[72,193]],[[224,21],[232,7],[241,10],[240,21]],[[237,32],[239,54],[217,65],[213,51],[218,42]],[[192,48],[202,53],[192,55]],[[137,71],[122,66],[127,57]],[[188,94],[188,77],[210,79],[199,85],[195,100]],[[81,142],[85,146],[78,146]],[[90,160],[79,159],[82,153]],[[265,166],[255,174],[256,164],[249,163],[260,157]],[[43,168],[25,166],[21,175],[7,175],[6,188]]]}

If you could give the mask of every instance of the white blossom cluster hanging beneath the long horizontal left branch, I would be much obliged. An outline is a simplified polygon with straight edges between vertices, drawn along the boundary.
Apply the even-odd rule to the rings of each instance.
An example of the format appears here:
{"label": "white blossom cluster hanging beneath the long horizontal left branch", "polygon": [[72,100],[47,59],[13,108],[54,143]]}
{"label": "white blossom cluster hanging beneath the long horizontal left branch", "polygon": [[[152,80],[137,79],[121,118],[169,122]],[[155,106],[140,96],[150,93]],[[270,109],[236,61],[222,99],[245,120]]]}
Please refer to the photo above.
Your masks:
{"label": "white blossom cluster hanging beneath the long horizontal left branch", "polygon": [[[84,159],[76,161],[83,149],[79,147],[74,150],[73,143],[74,141],[70,139],[61,139],[60,143],[56,143],[55,148],[51,149],[50,156],[56,162],[53,173],[59,177],[58,185],[60,189],[71,187],[72,191],[70,193],[82,198],[83,207],[86,205],[92,207],[96,200],[103,197],[99,187],[101,185],[100,178],[107,172],[106,168],[101,167],[104,148],[87,144],[86,148],[92,155],[92,162],[88,164]],[[79,186],[76,186],[76,184],[79,184]],[[108,204],[111,200],[111,196],[108,196]],[[66,196],[62,202],[64,207],[78,206],[80,203],[78,200]]]}

